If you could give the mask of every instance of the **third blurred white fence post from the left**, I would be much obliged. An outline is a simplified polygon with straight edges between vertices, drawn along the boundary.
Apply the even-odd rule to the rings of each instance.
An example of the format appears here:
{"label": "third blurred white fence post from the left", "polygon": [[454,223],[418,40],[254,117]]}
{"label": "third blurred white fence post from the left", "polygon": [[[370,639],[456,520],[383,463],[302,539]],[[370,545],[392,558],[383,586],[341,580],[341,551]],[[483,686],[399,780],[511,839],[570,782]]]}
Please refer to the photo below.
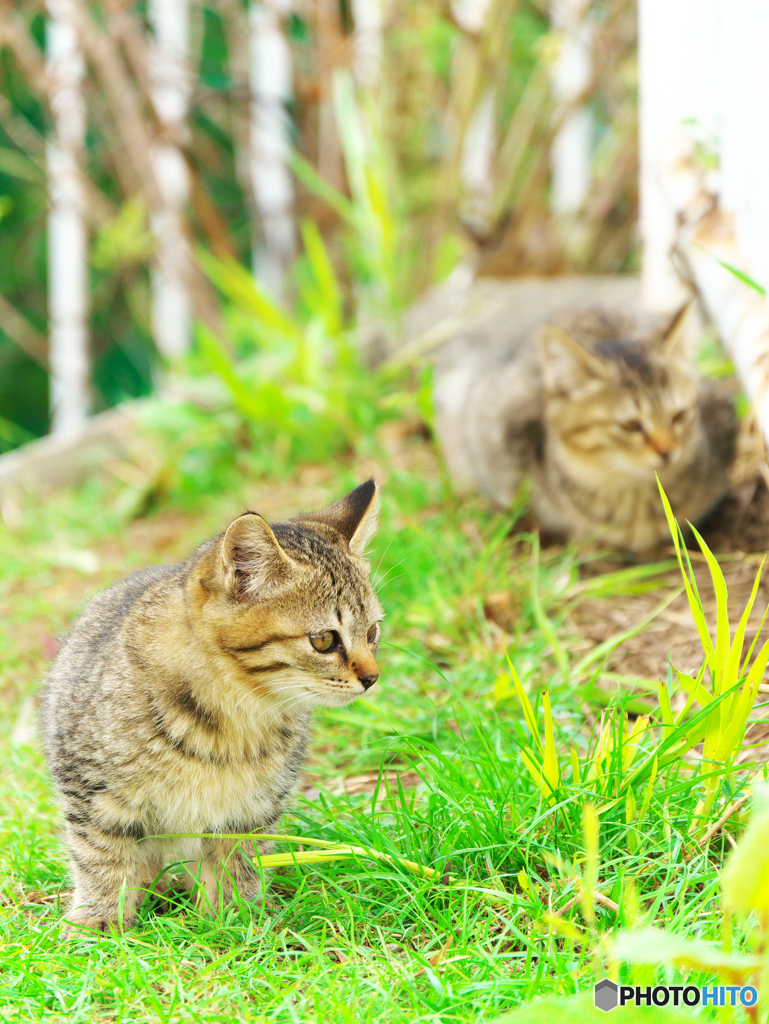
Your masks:
{"label": "third blurred white fence post from the left", "polygon": [[296,247],[294,183],[288,166],[292,60],[281,24],[290,7],[291,0],[261,0],[249,11],[251,180],[263,239],[254,247],[254,272],[279,298]]}

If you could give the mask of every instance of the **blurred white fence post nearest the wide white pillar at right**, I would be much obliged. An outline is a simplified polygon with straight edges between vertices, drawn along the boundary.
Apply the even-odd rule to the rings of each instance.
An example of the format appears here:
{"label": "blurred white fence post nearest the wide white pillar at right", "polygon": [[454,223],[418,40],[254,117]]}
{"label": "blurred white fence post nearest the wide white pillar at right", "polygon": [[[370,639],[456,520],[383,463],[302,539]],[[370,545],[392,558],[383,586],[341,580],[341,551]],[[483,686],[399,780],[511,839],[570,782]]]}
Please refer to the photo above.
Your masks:
{"label": "blurred white fence post nearest the wide white pillar at right", "polygon": [[[550,22],[561,35],[552,72],[553,93],[562,111],[579,99],[592,73],[591,27],[587,0],[552,0]],[[558,112],[557,112],[558,113]],[[551,205],[556,213],[575,214],[590,190],[593,116],[584,104],[563,119],[550,151]]]}

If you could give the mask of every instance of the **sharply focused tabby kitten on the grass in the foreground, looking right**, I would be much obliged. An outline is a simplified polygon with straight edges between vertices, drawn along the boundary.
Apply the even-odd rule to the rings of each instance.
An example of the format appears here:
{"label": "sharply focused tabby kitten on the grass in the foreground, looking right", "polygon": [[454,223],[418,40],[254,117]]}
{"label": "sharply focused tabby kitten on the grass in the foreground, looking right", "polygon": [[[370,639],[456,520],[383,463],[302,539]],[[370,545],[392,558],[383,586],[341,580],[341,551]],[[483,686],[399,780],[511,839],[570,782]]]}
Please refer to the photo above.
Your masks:
{"label": "sharply focused tabby kitten on the grass in the foreground, looking right", "polygon": [[[68,919],[131,925],[169,860],[211,906],[260,893],[250,859],[271,844],[304,758],[313,707],[379,677],[382,608],[362,553],[374,480],[321,512],[268,524],[248,512],[185,562],[95,597],[48,677],[45,752],[66,818]],[[210,833],[191,841],[158,839]],[[157,890],[158,887],[156,887]],[[72,929],[70,929],[72,930]]]}

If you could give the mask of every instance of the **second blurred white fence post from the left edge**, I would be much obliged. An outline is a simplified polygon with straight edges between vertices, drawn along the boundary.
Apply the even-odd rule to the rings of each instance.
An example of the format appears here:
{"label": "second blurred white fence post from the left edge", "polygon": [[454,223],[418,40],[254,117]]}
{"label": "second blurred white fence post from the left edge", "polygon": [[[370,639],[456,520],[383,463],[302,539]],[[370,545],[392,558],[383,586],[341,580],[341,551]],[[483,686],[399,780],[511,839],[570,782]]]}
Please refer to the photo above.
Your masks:
{"label": "second blurred white fence post from the left edge", "polygon": [[[149,68],[153,102],[168,136],[178,138],[184,130],[190,89],[188,0],[149,0],[147,14],[155,34]],[[173,361],[189,348],[190,253],[183,226],[189,183],[184,158],[174,141],[161,137],[152,157],[164,201],[162,209],[151,213],[156,240],[153,335],[158,350]]]}

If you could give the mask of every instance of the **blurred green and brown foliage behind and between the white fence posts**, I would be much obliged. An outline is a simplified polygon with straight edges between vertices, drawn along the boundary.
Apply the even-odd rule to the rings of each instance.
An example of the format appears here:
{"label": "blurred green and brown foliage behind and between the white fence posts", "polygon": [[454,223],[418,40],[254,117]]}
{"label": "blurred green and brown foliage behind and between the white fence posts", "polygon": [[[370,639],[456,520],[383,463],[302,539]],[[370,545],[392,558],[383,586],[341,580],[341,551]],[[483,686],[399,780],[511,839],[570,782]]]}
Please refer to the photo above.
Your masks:
{"label": "blurred green and brown foliage behind and between the white fence posts", "polygon": [[[119,17],[146,36],[143,3],[81,7],[105,37],[113,34],[124,57],[131,37],[113,31]],[[345,443],[370,415],[360,360],[381,355],[378,332],[396,336],[400,311],[460,261],[492,275],[634,269],[635,9],[629,0],[597,0],[589,8],[593,77],[580,98],[593,115],[593,182],[582,210],[564,218],[552,213],[549,201],[549,147],[564,111],[552,95],[558,34],[544,0],[495,0],[478,32],[463,27],[447,0],[389,0],[381,73],[369,89],[347,74],[348,0],[291,5],[284,31],[294,62],[292,169],[302,252],[279,304],[246,269],[259,230],[242,137],[249,101],[246,6],[241,0],[194,4],[195,84],[183,140],[189,230],[215,287],[223,332],[198,331],[186,372],[218,375],[245,421],[263,422],[269,407],[276,432],[330,412],[331,429]],[[0,451],[44,434],[49,422],[45,145],[51,118],[44,38],[45,11],[37,0],[0,14],[6,254],[0,261]],[[130,59],[125,62],[130,68]],[[463,179],[463,146],[490,87],[490,168],[479,195]],[[147,198],[125,170],[125,146],[133,143],[121,136],[90,69],[84,88],[97,412],[151,393],[162,366],[149,323]],[[152,129],[153,112],[146,97],[142,102]],[[351,135],[355,118],[366,126],[364,157]]]}

